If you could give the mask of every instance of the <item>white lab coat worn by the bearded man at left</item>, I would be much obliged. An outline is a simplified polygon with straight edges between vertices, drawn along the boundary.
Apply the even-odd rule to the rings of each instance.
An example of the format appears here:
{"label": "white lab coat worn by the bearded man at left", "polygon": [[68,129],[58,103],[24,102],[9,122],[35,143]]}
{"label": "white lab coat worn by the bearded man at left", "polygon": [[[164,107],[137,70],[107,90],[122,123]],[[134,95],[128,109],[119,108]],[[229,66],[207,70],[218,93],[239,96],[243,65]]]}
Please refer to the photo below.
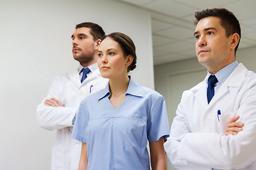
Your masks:
{"label": "white lab coat worn by the bearded man at left", "polygon": [[78,71],[56,77],[48,90],[46,98],[58,98],[65,107],[38,105],[36,113],[42,128],[57,130],[52,149],[52,170],[77,170],[81,153],[81,142],[71,139],[72,120],[80,102],[90,93],[105,88],[107,79],[100,75],[99,69],[88,74],[80,83]]}

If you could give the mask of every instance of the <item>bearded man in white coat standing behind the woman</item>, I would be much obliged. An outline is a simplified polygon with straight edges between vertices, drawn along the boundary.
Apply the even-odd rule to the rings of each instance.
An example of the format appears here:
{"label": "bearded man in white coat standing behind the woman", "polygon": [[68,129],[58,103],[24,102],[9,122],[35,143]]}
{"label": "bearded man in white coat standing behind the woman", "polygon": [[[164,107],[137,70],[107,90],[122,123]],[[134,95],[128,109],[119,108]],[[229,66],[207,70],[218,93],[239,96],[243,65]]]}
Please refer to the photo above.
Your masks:
{"label": "bearded man in white coat standing behind the woman", "polygon": [[103,79],[97,68],[97,50],[104,30],[96,23],[80,23],[71,36],[73,57],[80,62],[75,72],[53,80],[46,98],[38,105],[38,123],[47,130],[57,130],[52,148],[52,170],[77,170],[81,143],[71,139],[75,113],[86,96],[103,89]]}

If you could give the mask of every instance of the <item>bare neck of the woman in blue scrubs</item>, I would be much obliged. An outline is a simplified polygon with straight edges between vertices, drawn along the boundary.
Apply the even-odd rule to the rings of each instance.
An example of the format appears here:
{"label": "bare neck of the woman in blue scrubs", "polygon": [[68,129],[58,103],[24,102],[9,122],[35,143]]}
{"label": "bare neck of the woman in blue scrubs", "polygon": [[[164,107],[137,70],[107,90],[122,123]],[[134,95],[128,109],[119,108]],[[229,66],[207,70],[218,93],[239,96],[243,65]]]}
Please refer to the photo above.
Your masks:
{"label": "bare neck of the woman in blue scrubs", "polygon": [[110,79],[111,96],[125,95],[129,85],[129,77],[119,77]]}

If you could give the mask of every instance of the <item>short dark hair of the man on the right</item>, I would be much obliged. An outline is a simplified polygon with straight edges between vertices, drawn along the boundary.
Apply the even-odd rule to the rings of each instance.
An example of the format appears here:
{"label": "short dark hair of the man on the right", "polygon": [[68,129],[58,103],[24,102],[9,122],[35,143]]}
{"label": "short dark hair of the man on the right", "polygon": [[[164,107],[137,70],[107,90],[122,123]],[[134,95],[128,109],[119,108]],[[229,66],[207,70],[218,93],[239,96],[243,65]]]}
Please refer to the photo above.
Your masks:
{"label": "short dark hair of the man on the right", "polygon": [[[220,18],[220,25],[225,29],[225,33],[227,37],[233,35],[234,33],[238,33],[241,39],[241,28],[238,18],[235,17],[234,13],[228,11],[226,8],[206,8],[201,11],[196,11],[194,13],[194,24],[195,26],[198,22],[206,18],[208,16],[216,16]],[[238,41],[238,45],[240,42]],[[238,45],[235,47],[235,52],[238,50]]]}

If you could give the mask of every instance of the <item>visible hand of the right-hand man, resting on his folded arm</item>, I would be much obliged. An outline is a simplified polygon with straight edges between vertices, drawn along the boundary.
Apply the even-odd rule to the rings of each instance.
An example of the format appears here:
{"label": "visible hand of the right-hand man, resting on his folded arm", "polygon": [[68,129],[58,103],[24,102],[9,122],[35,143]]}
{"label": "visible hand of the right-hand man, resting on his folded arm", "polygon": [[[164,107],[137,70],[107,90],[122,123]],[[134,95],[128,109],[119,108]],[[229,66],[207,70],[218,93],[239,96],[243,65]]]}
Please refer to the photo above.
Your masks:
{"label": "visible hand of the right-hand man, resting on his folded arm", "polygon": [[231,118],[228,121],[228,125],[225,128],[225,135],[237,135],[238,132],[242,131],[242,127],[244,126],[244,123],[236,122],[239,119],[239,115]]}

